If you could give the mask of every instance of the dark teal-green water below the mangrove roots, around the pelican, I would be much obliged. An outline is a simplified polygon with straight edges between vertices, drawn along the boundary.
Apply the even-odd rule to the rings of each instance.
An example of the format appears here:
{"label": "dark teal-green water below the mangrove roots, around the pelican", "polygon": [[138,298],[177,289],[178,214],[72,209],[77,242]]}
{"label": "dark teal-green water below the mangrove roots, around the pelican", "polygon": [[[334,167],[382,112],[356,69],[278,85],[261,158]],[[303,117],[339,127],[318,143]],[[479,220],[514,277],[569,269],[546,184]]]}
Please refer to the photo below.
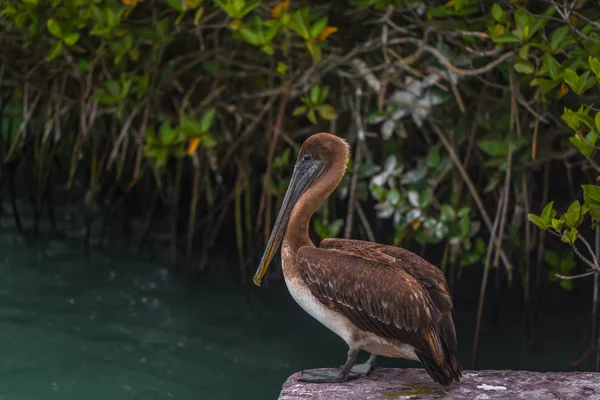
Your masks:
{"label": "dark teal-green water below the mangrove roots, around the pelican", "polygon": [[[345,359],[341,340],[281,286],[251,296],[252,309],[239,287],[223,281],[196,286],[186,298],[179,278],[153,255],[85,255],[79,243],[28,243],[3,225],[0,400],[276,399],[293,372]],[[473,298],[457,293],[465,364]],[[501,329],[484,324],[480,367],[568,370],[589,310],[555,302],[542,309],[543,352],[522,346],[517,304],[501,315]]]}

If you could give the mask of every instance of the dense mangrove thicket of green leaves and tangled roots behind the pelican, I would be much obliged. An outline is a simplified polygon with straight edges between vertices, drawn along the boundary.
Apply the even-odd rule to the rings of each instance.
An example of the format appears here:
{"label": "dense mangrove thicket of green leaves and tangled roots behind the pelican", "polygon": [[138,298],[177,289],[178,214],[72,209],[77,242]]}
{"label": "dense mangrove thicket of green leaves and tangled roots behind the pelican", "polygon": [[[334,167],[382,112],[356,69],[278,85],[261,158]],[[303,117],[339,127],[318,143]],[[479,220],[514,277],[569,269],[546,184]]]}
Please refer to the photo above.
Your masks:
{"label": "dense mangrove thicket of green leaves and tangled roots behind the pelican", "polygon": [[493,266],[529,321],[541,282],[600,270],[593,1],[0,1],[0,52],[0,184],[24,230],[17,176],[34,233],[57,184],[88,238],[165,210],[190,273],[231,225],[247,282],[299,145],[327,130],[354,152],[315,233],[442,246],[451,285],[483,268],[478,321]]}

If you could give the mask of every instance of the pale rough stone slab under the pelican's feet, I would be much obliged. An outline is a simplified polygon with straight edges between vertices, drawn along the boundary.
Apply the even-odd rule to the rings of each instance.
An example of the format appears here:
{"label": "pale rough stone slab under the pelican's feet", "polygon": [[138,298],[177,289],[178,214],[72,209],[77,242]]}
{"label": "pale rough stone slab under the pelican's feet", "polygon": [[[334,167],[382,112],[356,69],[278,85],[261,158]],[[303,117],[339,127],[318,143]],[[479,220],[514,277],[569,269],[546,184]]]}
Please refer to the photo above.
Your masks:
{"label": "pale rough stone slab under the pelican's feet", "polygon": [[443,387],[423,369],[378,368],[345,383],[299,382],[300,373],[283,385],[279,400],[381,399],[590,399],[600,400],[600,373],[464,371],[460,383]]}

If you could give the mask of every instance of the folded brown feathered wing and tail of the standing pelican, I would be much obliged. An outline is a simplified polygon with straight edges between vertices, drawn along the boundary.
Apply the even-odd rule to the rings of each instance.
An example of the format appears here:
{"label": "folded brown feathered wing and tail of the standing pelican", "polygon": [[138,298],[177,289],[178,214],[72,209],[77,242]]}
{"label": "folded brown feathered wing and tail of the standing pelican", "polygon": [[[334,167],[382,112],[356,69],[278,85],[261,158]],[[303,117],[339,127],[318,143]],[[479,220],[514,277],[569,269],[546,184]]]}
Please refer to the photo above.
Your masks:
{"label": "folded brown feathered wing and tail of the standing pelican", "polygon": [[361,330],[413,346],[439,383],[458,381],[452,301],[438,268],[407,250],[359,240],[326,239],[296,257],[321,302]]}

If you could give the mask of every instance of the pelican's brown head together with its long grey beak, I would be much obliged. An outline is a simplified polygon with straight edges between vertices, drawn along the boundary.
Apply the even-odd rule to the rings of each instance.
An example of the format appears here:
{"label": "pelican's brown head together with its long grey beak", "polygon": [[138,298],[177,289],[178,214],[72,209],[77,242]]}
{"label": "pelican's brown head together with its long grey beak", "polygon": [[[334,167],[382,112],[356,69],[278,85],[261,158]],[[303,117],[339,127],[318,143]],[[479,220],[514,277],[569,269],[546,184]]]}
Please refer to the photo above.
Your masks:
{"label": "pelican's brown head together with its long grey beak", "polygon": [[[330,133],[317,133],[304,141],[292,173],[275,226],[267,242],[267,247],[254,275],[254,284],[260,286],[262,278],[273,256],[279,249],[287,231],[288,222],[294,207],[304,201],[312,201],[314,209],[339,185],[350,157],[348,143]],[[316,196],[306,196],[309,189],[320,189]]]}

